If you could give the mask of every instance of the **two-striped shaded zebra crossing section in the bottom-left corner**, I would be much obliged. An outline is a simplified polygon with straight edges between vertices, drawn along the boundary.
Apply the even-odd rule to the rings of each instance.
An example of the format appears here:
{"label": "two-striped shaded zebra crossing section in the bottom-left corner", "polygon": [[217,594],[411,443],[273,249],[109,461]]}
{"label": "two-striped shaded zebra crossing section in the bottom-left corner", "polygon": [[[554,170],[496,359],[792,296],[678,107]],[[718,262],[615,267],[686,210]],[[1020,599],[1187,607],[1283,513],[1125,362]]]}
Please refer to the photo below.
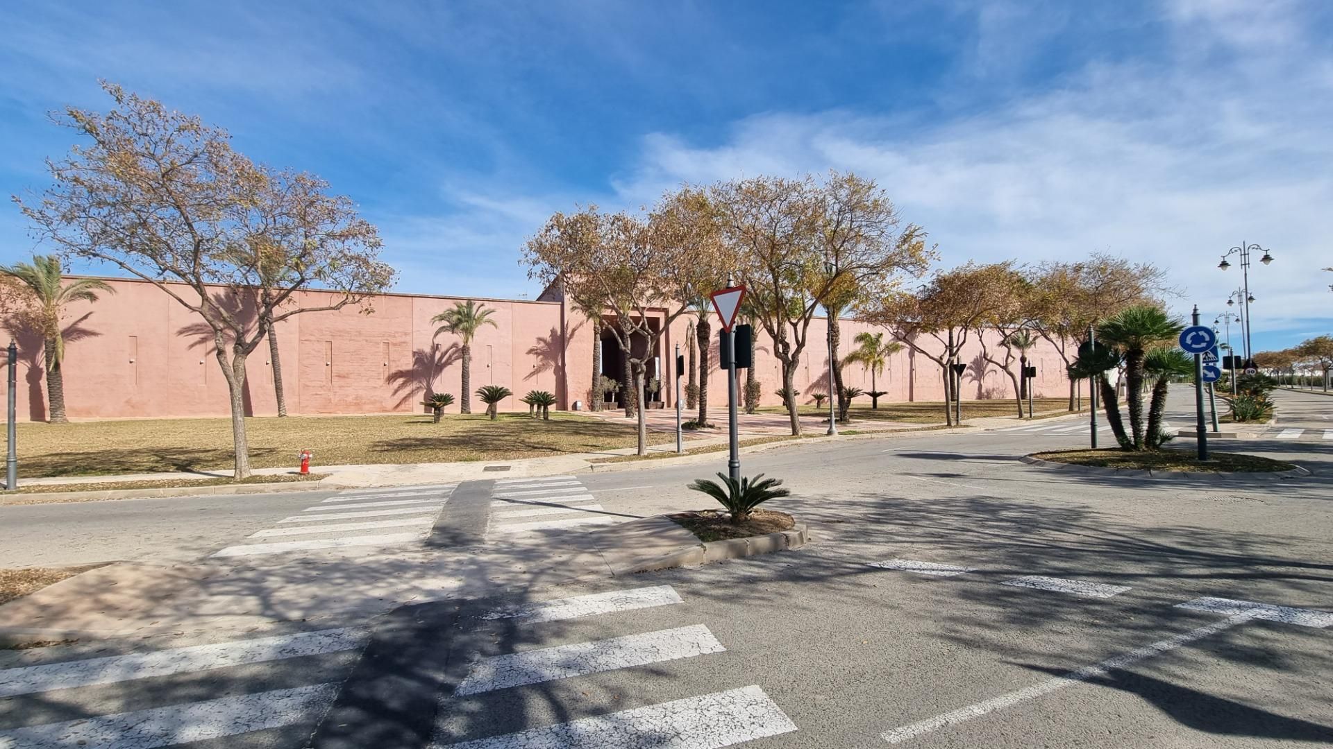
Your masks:
{"label": "two-striped shaded zebra crossing section in the bottom-left corner", "polygon": [[4,668],[0,749],[299,745],[365,638],[325,629]]}

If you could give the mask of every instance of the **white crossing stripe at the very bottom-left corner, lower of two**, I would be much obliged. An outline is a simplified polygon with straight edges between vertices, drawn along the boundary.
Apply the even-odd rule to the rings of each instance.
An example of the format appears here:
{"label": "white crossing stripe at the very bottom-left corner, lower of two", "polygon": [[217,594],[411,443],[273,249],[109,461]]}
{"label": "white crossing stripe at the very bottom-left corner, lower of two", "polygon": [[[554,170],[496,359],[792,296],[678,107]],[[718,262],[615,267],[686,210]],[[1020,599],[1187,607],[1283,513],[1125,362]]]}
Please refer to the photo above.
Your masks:
{"label": "white crossing stripe at the very bottom-left corner, lower of two", "polygon": [[0,730],[0,749],[153,749],[313,721],[337,694],[335,684],[187,702],[132,713]]}

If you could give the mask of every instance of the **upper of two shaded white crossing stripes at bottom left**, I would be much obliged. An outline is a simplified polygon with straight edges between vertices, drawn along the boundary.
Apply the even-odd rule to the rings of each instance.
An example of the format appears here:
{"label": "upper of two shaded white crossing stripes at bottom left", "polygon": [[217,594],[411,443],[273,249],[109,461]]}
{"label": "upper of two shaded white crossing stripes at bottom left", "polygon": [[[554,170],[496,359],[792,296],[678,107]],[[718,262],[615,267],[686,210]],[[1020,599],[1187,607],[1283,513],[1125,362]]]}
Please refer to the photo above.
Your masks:
{"label": "upper of two shaded white crossing stripes at bottom left", "polygon": [[365,633],[359,629],[324,629],[5,669],[0,670],[0,697],[337,653],[360,648],[364,641]]}

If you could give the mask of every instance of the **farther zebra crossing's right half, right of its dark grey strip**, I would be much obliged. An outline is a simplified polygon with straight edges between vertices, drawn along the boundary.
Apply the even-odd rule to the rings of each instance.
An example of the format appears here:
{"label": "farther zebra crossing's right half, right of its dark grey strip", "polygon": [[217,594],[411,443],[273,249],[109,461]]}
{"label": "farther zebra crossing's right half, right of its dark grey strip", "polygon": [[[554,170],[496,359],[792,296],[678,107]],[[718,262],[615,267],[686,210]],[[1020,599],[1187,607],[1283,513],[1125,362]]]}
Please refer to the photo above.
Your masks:
{"label": "farther zebra crossing's right half, right of its dark grey strip", "polygon": [[491,502],[489,538],[620,522],[575,476],[505,478],[496,481]]}

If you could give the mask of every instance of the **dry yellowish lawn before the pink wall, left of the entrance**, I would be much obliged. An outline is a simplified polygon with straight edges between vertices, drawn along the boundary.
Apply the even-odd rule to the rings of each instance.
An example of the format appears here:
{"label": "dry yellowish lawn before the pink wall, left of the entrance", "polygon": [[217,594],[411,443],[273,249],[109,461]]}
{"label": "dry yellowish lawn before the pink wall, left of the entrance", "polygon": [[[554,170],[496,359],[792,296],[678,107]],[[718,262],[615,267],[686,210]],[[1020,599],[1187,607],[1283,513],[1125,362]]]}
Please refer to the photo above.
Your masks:
{"label": "dry yellowish lawn before the pink wall, left of the entrance", "polygon": [[[288,416],[245,420],[255,468],[296,468],[296,453],[315,452],[311,465],[515,460],[635,445],[635,425],[552,413],[549,421],[520,413],[429,416]],[[165,470],[216,470],[232,465],[229,418],[84,421],[52,426],[19,424],[19,476],[99,476]],[[674,440],[648,433],[652,444]]]}

